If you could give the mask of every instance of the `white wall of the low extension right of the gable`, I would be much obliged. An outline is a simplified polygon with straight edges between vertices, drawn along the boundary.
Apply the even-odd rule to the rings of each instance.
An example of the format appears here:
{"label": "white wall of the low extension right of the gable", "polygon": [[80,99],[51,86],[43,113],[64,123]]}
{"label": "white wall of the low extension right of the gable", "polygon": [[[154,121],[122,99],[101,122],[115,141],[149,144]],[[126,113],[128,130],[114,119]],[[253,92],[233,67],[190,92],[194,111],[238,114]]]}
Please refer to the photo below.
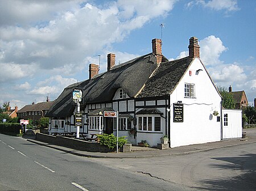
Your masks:
{"label": "white wall of the low extension right of the gable", "polygon": [[[224,114],[228,114],[228,126],[224,126]],[[222,138],[242,137],[242,110],[222,109]]]}

